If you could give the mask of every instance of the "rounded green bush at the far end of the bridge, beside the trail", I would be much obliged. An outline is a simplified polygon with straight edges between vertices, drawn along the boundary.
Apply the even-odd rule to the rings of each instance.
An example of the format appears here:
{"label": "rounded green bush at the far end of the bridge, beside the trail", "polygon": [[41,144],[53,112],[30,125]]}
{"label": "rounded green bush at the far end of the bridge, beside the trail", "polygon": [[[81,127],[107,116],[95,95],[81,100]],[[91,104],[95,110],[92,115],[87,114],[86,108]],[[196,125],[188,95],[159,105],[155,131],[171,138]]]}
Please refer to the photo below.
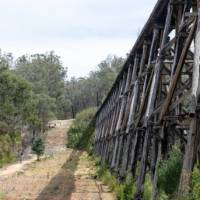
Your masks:
{"label": "rounded green bush at the far end of the bridge, beside the trail", "polygon": [[77,114],[71,128],[68,131],[68,147],[88,149],[91,145],[94,127],[89,123],[91,122],[96,108],[88,108]]}

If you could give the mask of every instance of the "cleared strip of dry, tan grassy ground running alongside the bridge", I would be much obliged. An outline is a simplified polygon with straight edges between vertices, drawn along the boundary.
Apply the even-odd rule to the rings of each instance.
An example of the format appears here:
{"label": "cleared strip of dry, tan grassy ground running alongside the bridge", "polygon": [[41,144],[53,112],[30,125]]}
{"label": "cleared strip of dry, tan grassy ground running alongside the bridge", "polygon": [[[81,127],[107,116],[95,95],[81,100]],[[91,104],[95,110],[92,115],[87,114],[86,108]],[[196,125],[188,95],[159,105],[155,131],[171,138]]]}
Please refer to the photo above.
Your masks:
{"label": "cleared strip of dry, tan grassy ground running alongside the bridge", "polygon": [[115,200],[109,188],[95,180],[95,166],[85,152],[65,148],[72,121],[56,121],[48,131],[46,158],[0,176],[0,199]]}

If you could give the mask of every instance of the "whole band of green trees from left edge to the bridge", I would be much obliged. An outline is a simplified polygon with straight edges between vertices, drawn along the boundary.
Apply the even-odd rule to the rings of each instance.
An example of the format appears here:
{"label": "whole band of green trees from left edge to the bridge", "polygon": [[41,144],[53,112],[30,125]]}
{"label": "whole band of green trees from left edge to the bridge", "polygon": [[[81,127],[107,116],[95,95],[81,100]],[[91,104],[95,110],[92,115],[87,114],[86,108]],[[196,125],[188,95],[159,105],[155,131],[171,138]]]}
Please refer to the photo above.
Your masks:
{"label": "whole band of green trees from left edge to the bridge", "polygon": [[13,161],[43,133],[51,119],[75,117],[98,106],[113,84],[123,58],[111,56],[88,77],[67,79],[54,52],[0,54],[0,166]]}

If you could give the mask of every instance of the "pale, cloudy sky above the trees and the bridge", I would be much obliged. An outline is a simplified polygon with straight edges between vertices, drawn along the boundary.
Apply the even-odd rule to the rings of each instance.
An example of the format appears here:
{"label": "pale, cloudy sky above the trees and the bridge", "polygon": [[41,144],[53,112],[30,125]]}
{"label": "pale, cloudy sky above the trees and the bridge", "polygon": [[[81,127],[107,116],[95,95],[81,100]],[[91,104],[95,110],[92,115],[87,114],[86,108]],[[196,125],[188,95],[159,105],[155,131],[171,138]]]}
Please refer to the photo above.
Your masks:
{"label": "pale, cloudy sky above the trees and the bridge", "polygon": [[86,76],[109,54],[132,48],[156,0],[0,0],[0,48],[54,50],[68,75]]}

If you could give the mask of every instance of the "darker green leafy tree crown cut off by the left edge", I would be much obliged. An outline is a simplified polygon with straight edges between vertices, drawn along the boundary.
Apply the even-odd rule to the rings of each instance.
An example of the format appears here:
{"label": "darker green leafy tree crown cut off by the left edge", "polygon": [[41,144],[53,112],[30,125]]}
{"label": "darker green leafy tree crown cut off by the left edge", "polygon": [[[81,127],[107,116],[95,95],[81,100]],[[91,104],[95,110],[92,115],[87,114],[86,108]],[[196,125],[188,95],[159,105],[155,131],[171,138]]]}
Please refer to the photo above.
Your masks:
{"label": "darker green leafy tree crown cut off by the left edge", "polygon": [[11,71],[0,73],[0,120],[7,124],[22,123],[29,113],[31,87]]}

